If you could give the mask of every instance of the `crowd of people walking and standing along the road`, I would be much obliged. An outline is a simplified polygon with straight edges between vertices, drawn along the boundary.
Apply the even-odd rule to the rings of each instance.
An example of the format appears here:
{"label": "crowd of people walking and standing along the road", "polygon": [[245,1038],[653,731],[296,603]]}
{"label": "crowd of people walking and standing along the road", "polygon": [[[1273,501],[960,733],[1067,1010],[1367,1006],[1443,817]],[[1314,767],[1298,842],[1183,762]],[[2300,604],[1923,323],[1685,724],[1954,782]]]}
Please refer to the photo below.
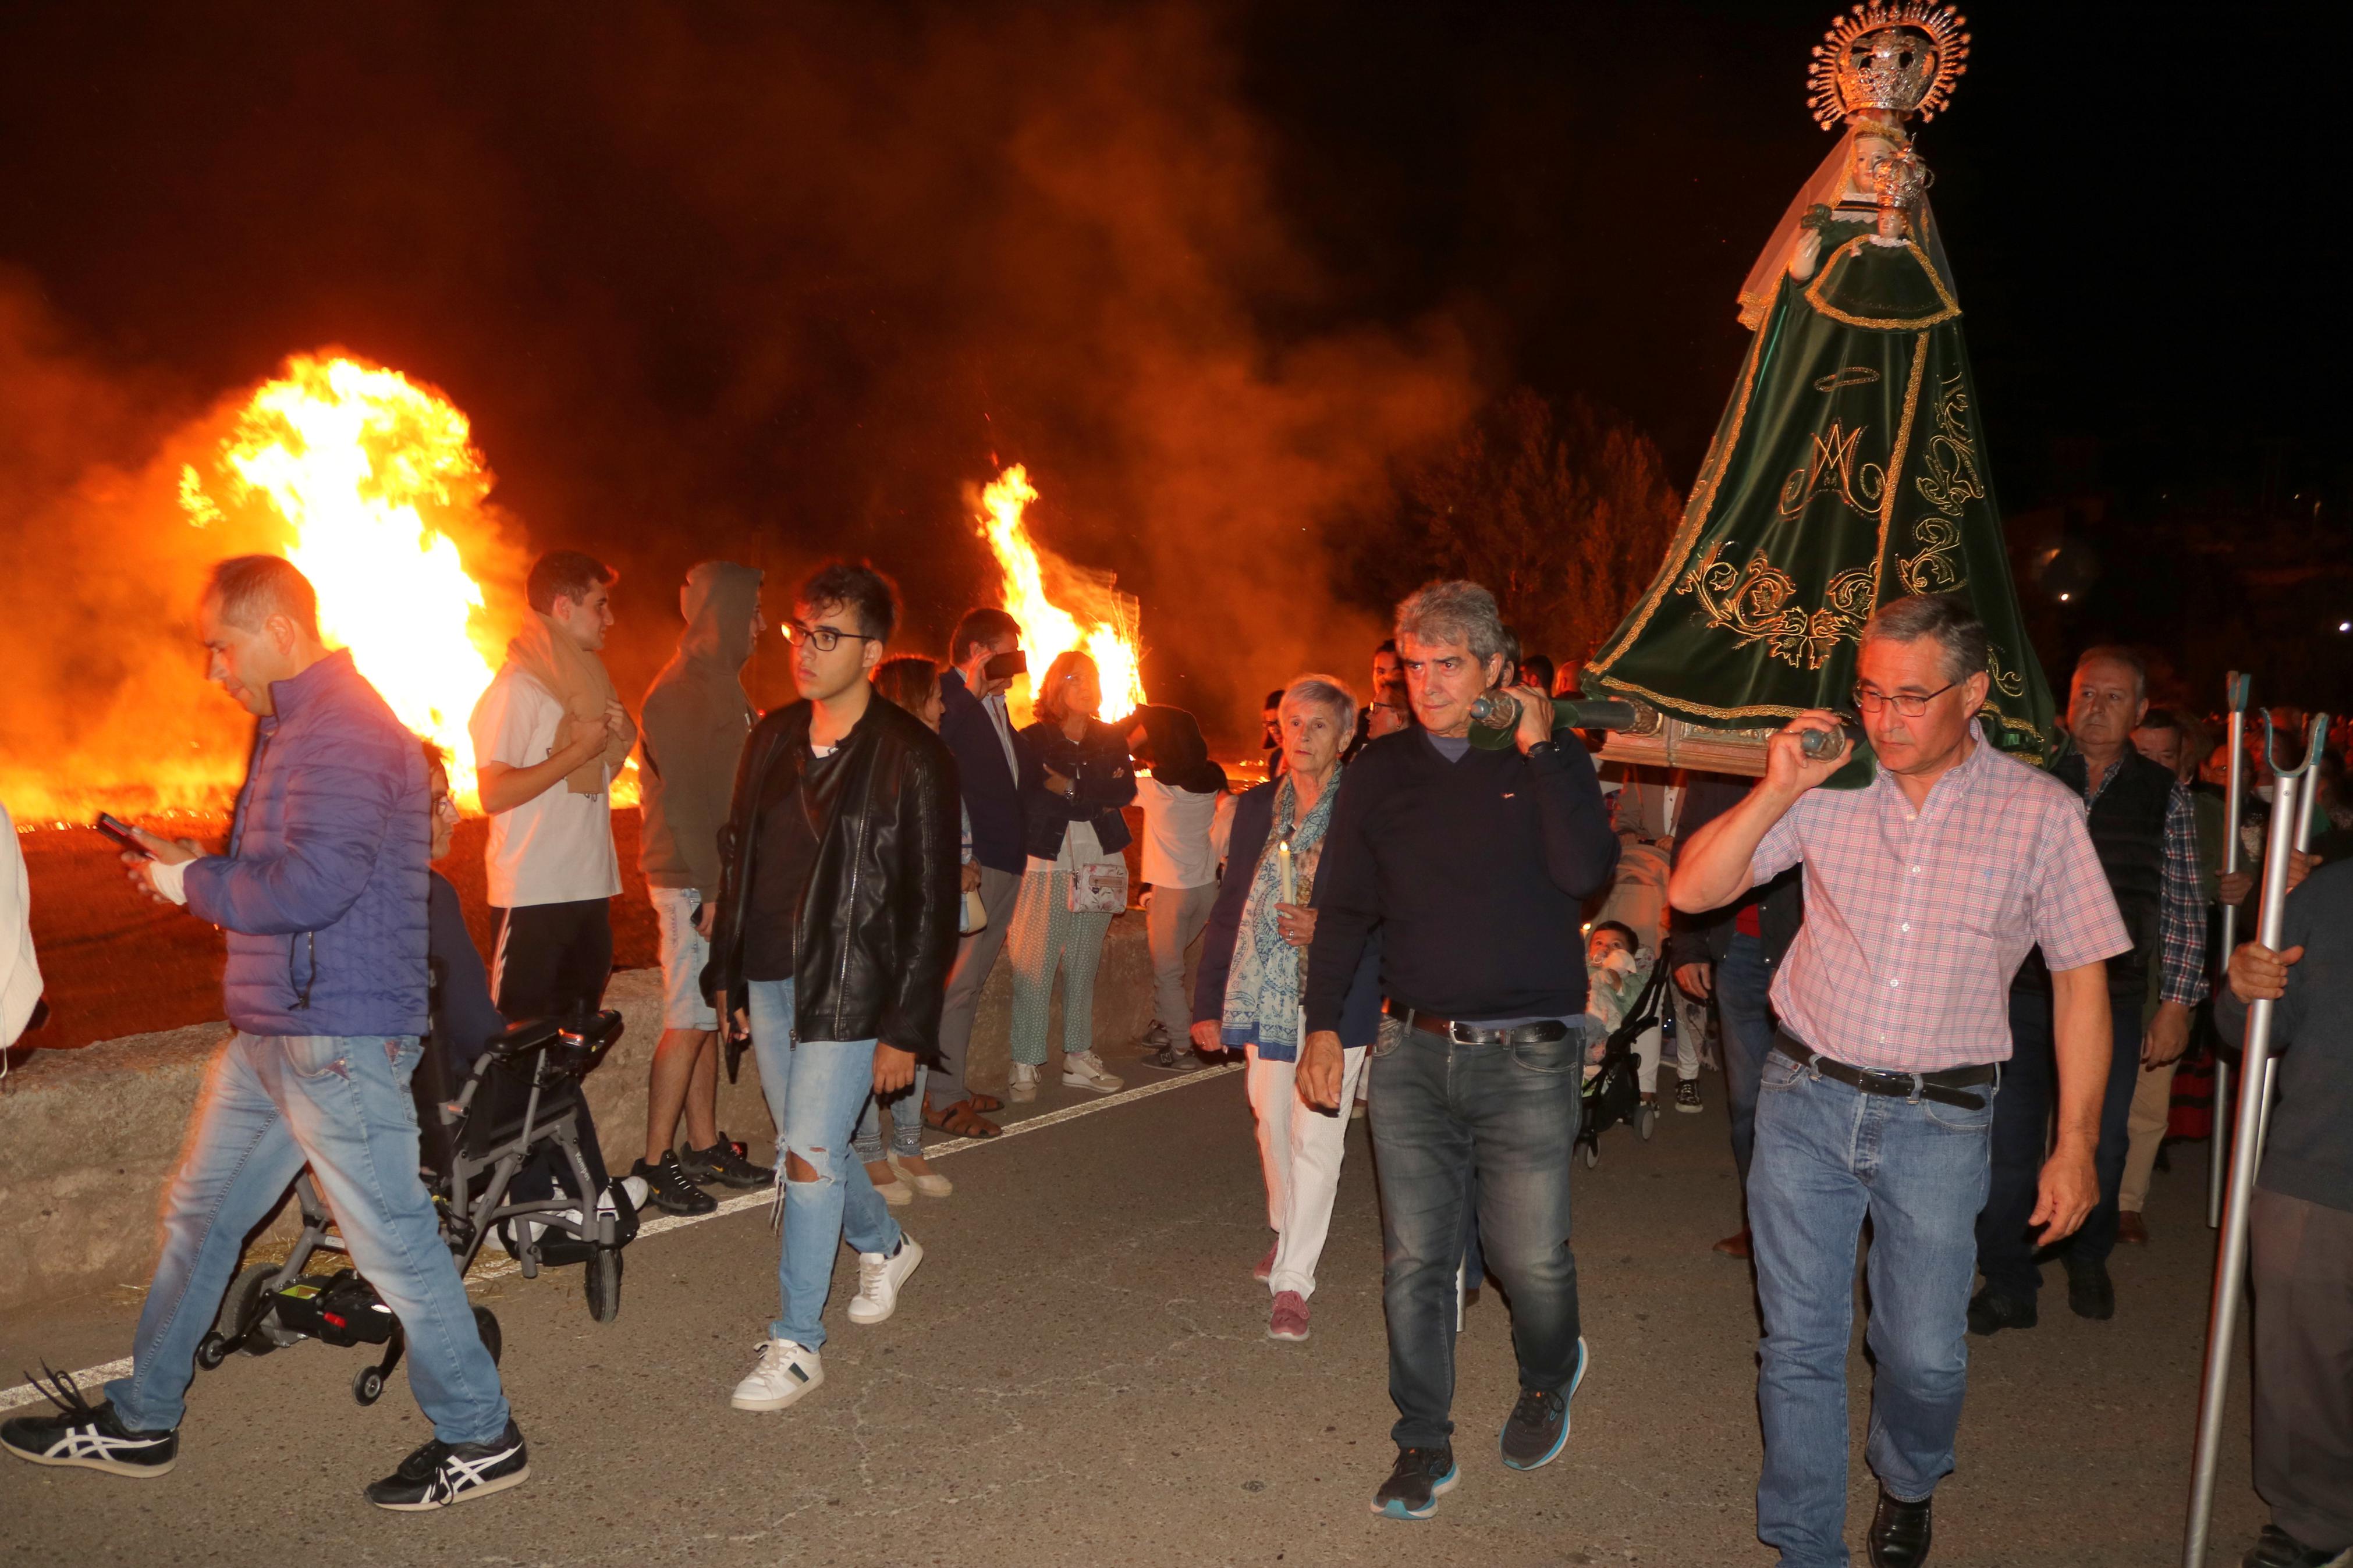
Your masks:
{"label": "crowd of people walking and standing along the road", "polygon": [[[621,893],[612,785],[635,752],[661,1034],[642,1154],[619,1180],[595,1166],[598,1190],[569,1197],[696,1215],[713,1187],[776,1192],[779,1314],[736,1408],[781,1410],[824,1385],[845,1241],[845,1316],[899,1309],[925,1251],[894,1211],[953,1192],[925,1133],[993,1138],[1007,1100],[1035,1100],[1056,978],[1061,1084],[1122,1088],[1096,1051],[1092,990],[1113,919],[1141,903],[1141,1067],[1247,1067],[1271,1232],[1252,1272],[1275,1340],[1311,1333],[1348,1119],[1369,1107],[1398,1406],[1377,1514],[1426,1519],[1461,1476],[1454,1342],[1487,1276],[1508,1298],[1520,1382],[1501,1460],[1560,1455],[1591,1359],[1572,1145],[1607,1041],[1631,1034],[1642,1135],[1668,1056],[1682,1112],[1704,1105],[1704,1063],[1722,1067],[1744,1215],[1715,1246],[1755,1267],[1760,1537],[1784,1563],[1847,1561],[1868,1220],[1868,1552],[1922,1563],[1967,1335],[2033,1328],[2042,1260],[2061,1265],[2078,1316],[2118,1312],[2108,1258],[2148,1237],[2172,1077],[2268,997],[2287,1056],[2252,1251],[2273,1526],[2247,1561],[2353,1547],[2353,872],[2327,865],[2353,846],[2337,842],[2353,809],[2334,766],[2320,844],[2287,867],[2289,943],[2221,952],[2219,907],[2254,929],[2266,764],[2245,759],[2247,870],[2224,872],[2228,748],[2200,717],[2151,708],[2129,649],[2082,654],[2068,745],[2035,769],[1977,726],[1991,677],[1974,616],[1948,597],[1894,599],[1859,639],[1868,785],[1824,788],[1842,745],[1814,757],[1802,741],[1845,733],[1831,712],[1777,733],[1760,780],[1598,769],[1555,729],[1553,696],[1577,691],[1579,668],[1525,654],[1487,590],[1431,583],[1398,607],[1362,701],[1318,672],[1268,693],[1266,783],[1235,792],[1193,715],[1106,719],[1094,663],[1064,651],[1031,672],[1002,609],[965,614],[941,661],[889,654],[899,602],[864,564],[795,585],[779,630],[798,701],[767,715],[741,682],[767,630],[762,576],[696,564],[678,651],[633,717],[600,661],[612,585],[588,555],[541,557],[525,628],[471,717],[496,912],[485,966],[431,870],[456,823],[445,762],[320,642],[289,562],[214,569],[209,675],[261,741],[224,853],[141,835],[125,860],[144,896],[228,933],[235,1034],[165,1201],[132,1373],[101,1403],[66,1387],[54,1415],[7,1422],[9,1453],[165,1474],[212,1305],[308,1164],[407,1328],[433,1422],[369,1500],[431,1509],[529,1474],[412,1175],[407,1079],[428,1039],[464,1058],[508,1018],[600,1006]],[[1024,675],[1031,722],[1016,726],[1007,696]],[[1473,705],[1497,693],[1518,717],[1475,729]],[[21,903],[21,865],[0,893]],[[38,997],[31,950],[14,954],[12,1030]],[[1000,957],[1005,1100],[969,1072]],[[746,1051],[776,1128],[769,1164],[718,1126],[718,1074]]]}

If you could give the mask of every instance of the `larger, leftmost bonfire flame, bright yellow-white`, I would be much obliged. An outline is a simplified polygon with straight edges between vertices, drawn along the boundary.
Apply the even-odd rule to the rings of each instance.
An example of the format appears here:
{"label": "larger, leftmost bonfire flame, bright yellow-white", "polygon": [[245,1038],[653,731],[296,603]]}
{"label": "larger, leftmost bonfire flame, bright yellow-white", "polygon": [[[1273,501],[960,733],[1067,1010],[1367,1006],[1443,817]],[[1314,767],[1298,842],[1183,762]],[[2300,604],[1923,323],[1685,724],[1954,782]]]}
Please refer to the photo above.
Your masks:
{"label": "larger, leftmost bonfire flame, bright yellow-white", "polygon": [[224,508],[275,510],[287,559],[318,588],[320,635],[449,752],[449,783],[473,806],[466,715],[499,644],[447,531],[494,536],[468,435],[447,397],[400,371],[296,355],[238,414],[214,473],[181,470],[179,498],[200,529]]}

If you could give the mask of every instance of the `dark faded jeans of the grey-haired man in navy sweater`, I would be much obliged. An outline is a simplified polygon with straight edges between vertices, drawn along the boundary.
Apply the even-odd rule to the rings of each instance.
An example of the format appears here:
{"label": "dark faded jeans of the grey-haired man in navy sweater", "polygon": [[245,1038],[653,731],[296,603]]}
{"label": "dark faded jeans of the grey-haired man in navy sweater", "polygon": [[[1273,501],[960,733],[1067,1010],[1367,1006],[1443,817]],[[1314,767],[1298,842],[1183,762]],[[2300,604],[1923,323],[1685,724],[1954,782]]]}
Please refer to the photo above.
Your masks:
{"label": "dark faded jeans of the grey-haired man in navy sweater", "polygon": [[1435,1448],[1454,1434],[1454,1269],[1473,1182],[1485,1269],[1511,1298],[1520,1387],[1560,1392],[1577,1373],[1569,1147],[1584,1037],[1574,1020],[1567,1039],[1541,1046],[1457,1046],[1402,1030],[1369,1051],[1391,1436]]}

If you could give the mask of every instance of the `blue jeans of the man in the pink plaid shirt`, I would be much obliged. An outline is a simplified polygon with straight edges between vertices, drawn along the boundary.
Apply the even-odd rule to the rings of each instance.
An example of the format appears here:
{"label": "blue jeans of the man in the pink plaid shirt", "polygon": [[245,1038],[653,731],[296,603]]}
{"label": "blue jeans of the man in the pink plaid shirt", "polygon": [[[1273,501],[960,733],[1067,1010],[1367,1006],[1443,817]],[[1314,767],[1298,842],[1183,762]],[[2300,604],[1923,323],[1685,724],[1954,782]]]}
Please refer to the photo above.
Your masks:
{"label": "blue jeans of the man in the pink plaid shirt", "polygon": [[1784,1568],[1845,1568],[1847,1345],[1854,1244],[1871,1220],[1871,1439],[1864,1458],[1918,1502],[1953,1469],[1967,1385],[1972,1222],[1986,1204],[1995,1091],[1977,1110],[1866,1095],[1765,1058],[1748,1229],[1765,1309],[1758,1537]]}

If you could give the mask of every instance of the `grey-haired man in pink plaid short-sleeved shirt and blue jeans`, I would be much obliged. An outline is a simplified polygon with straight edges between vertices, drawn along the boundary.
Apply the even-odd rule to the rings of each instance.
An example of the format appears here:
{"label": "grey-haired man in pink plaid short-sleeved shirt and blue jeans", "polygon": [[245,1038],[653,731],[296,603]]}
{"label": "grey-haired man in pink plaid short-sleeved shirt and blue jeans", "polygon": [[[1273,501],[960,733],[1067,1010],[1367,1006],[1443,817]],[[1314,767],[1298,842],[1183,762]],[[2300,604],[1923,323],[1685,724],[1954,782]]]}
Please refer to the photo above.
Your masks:
{"label": "grey-haired man in pink plaid short-sleeved shirt and blue jeans", "polygon": [[2132,947],[2082,799],[1993,750],[1974,717],[1986,628],[1953,597],[1882,604],[1854,705],[1878,752],[1861,790],[1817,790],[1805,712],[1748,799],[1699,830],[1668,898],[1713,910],[1805,867],[1805,929],[1772,987],[1781,1032],[1748,1171],[1765,1474],[1758,1535],[1786,1568],[1847,1563],[1847,1345],[1854,1246],[1871,1220],[1878,1361],[1866,1460],[1880,1481],[1873,1568],[1915,1568],[1953,1469],[1988,1133],[2009,1058],[2009,980],[2042,947],[2057,999],[2059,1140],[2033,1225],[2071,1234],[2099,1197],[2108,1079],[2106,959]]}

